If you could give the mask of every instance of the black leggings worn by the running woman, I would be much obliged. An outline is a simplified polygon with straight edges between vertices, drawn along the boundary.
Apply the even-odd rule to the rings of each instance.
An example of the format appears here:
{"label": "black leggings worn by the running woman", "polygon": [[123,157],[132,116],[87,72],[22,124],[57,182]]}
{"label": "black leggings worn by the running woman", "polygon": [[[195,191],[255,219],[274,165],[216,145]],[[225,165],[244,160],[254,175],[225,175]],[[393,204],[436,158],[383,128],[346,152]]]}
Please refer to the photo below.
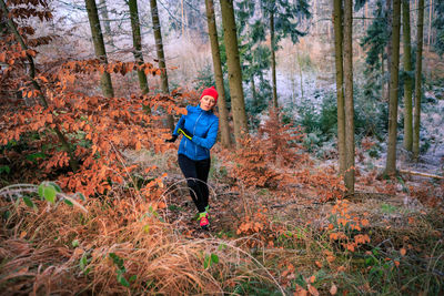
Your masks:
{"label": "black leggings worn by the running woman", "polygon": [[179,166],[186,178],[190,188],[190,195],[199,213],[205,212],[209,204],[209,187],[206,185],[210,172],[210,159],[203,161],[193,161],[183,154],[179,154]]}

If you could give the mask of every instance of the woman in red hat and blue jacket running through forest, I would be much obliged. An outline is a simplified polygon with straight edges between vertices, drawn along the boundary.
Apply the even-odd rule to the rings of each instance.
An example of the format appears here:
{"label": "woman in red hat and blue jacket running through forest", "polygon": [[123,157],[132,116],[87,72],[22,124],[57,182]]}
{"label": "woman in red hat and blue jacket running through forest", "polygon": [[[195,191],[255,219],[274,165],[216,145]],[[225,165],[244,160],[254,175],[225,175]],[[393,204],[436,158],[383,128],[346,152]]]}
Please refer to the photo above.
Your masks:
{"label": "woman in red hat and blue jacket running through forest", "polygon": [[214,86],[203,90],[198,106],[188,105],[186,115],[182,115],[175,125],[172,137],[165,142],[174,142],[180,134],[182,140],[178,151],[179,166],[186,178],[190,195],[199,211],[199,224],[206,229],[209,222],[210,150],[218,137],[219,119],[213,113],[218,102]]}

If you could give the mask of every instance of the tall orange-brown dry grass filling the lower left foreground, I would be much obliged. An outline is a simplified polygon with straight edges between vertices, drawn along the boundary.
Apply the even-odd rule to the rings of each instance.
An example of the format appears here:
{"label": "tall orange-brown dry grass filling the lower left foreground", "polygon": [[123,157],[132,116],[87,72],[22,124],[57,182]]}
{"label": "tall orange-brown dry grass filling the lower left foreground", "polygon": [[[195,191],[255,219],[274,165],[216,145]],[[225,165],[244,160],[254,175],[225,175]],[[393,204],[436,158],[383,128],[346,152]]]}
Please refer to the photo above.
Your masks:
{"label": "tall orange-brown dry grass filling the lower left foreground", "polygon": [[[253,277],[279,288],[238,242],[186,238],[162,222],[155,203],[90,200],[88,215],[37,204],[34,212],[1,202],[10,213],[0,241],[3,294],[224,294]],[[118,279],[112,253],[123,259],[123,277],[135,276],[129,288]],[[211,254],[219,262],[205,266]]]}

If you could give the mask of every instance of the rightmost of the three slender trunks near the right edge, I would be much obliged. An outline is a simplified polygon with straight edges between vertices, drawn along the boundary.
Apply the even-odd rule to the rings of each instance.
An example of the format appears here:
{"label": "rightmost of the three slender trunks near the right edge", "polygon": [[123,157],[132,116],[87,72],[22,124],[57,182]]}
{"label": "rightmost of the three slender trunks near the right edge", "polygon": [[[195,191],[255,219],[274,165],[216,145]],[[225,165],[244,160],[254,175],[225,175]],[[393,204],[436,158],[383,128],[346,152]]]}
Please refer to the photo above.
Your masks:
{"label": "rightmost of the three slender trunks near the right edge", "polygon": [[424,34],[424,0],[420,0],[417,10],[417,50],[415,72],[415,110],[413,126],[413,156],[420,156],[420,126],[421,126],[421,100],[422,100],[422,68],[423,68],[423,34]]}

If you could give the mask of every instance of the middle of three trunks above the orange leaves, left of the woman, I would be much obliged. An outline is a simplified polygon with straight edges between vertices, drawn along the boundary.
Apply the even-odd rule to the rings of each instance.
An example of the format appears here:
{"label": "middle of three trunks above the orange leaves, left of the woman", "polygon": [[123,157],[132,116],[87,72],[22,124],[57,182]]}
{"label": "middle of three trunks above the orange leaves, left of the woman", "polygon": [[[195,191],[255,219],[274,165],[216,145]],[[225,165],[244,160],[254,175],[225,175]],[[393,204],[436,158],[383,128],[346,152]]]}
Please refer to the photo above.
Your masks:
{"label": "middle of three trunks above the orange leaves, left of the woman", "polygon": [[[132,29],[132,43],[134,47],[133,54],[134,60],[138,64],[143,64],[142,54],[142,37],[140,34],[140,22],[139,22],[139,10],[138,0],[128,0],[130,7],[130,19]],[[142,70],[138,70],[139,85],[142,94],[147,94],[150,89],[148,86],[147,75]]]}

